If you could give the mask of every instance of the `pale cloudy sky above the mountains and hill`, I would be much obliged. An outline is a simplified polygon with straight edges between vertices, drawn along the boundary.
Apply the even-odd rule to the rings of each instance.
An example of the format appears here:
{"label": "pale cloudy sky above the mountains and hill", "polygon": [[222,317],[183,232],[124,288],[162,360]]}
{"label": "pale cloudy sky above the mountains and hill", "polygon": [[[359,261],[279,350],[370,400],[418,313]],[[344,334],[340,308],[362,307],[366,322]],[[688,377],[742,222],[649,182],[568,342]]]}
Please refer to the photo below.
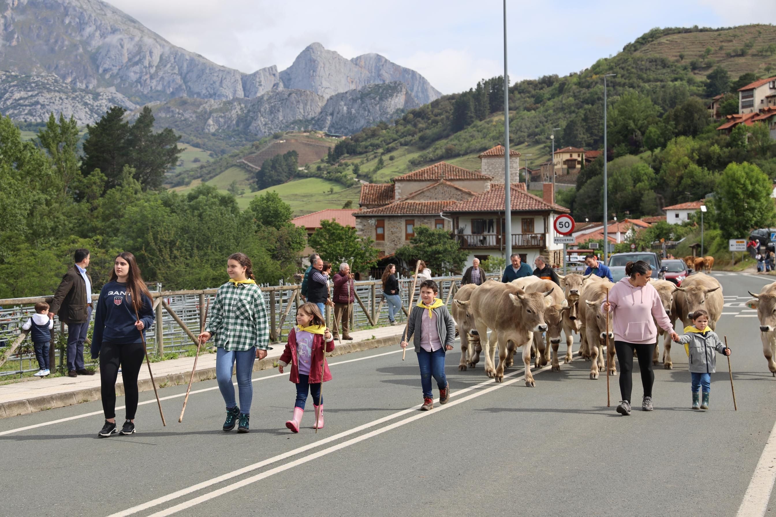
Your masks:
{"label": "pale cloudy sky above the mountains and hill", "polygon": [[[504,70],[498,0],[107,0],[171,43],[244,72],[283,70],[310,43],[382,54],[442,93]],[[774,0],[508,0],[514,81],[580,71],[653,27],[776,23]]]}

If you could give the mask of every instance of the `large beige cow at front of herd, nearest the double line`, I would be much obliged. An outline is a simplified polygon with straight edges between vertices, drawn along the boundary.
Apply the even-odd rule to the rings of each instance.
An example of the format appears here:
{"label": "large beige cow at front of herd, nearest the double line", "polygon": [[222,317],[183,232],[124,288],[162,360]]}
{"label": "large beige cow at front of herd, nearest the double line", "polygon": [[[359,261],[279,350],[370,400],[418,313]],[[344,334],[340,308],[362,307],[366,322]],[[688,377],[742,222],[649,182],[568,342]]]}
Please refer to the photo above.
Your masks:
{"label": "large beige cow at front of herd, nearest the double line", "polygon": [[[546,332],[545,297],[552,293],[526,293],[513,284],[486,282],[476,288],[468,302],[456,301],[472,312],[480,343],[485,353],[485,373],[496,382],[504,381],[504,367],[514,349],[523,347],[525,385],[536,385],[531,374],[531,343],[534,332]],[[469,308],[470,305],[470,308]],[[493,332],[489,339],[488,329]],[[498,344],[498,367],[495,345]]]}

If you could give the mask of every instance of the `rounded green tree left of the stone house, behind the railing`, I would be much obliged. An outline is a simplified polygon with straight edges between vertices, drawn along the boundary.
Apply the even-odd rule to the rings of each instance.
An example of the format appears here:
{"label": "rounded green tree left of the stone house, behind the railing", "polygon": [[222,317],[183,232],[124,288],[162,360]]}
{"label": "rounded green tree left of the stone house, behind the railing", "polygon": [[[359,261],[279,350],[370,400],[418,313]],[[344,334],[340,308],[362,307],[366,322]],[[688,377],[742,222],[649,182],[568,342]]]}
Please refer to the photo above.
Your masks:
{"label": "rounded green tree left of the stone house, behind the railing", "polygon": [[362,237],[355,228],[334,221],[321,221],[308,240],[320,257],[331,264],[347,262],[352,271],[366,271],[377,264],[377,250],[369,237]]}

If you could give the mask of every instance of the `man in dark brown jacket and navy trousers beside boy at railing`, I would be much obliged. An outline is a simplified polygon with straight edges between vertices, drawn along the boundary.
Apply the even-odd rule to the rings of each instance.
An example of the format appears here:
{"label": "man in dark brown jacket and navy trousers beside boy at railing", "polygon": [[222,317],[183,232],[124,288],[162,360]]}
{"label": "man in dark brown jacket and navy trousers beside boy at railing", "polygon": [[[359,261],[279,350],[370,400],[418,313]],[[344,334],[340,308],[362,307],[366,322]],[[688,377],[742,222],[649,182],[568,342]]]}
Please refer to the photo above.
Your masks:
{"label": "man in dark brown jacket and navy trousers beside boy at railing", "polygon": [[73,267],[62,277],[49,305],[49,318],[59,315],[68,325],[68,376],[94,375],[84,364],[84,341],[92,319],[92,277],[86,272],[89,250],[75,250]]}

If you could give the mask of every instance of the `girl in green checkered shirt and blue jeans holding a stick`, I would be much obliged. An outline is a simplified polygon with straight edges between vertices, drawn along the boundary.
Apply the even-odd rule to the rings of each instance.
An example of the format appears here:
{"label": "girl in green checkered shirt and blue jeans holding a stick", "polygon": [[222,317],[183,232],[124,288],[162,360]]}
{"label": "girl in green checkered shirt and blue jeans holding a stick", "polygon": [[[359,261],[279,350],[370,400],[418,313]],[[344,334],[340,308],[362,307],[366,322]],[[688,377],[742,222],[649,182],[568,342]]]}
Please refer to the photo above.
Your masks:
{"label": "girl in green checkered shirt and blue jeans holding a stick", "polygon": [[[216,379],[227,403],[227,419],[223,430],[231,431],[239,419],[237,433],[248,433],[248,421],[253,398],[253,362],[264,359],[269,349],[267,311],[262,290],[256,285],[251,259],[244,253],[234,253],[227,260],[229,281],[216,293],[205,332],[199,339],[216,336]],[[232,370],[237,364],[237,388],[240,405],[234,399]]]}

